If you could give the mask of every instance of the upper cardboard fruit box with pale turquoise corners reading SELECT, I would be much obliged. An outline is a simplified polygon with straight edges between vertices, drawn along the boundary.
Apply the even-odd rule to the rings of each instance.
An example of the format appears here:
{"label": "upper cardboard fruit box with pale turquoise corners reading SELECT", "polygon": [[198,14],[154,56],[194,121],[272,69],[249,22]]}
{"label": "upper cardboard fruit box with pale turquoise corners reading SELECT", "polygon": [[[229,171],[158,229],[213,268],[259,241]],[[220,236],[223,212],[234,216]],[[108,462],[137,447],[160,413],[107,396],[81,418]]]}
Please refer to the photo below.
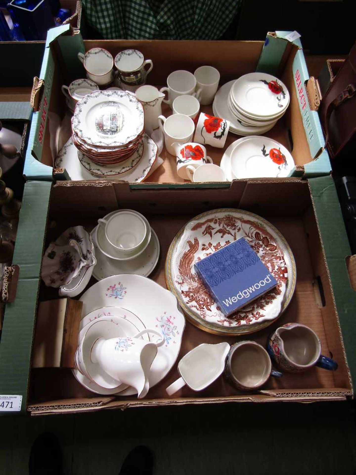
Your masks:
{"label": "upper cardboard fruit box with pale turquoise corners reading SELECT", "polygon": [[[58,31],[56,31],[58,30]],[[287,113],[266,135],[278,140],[292,151],[294,177],[328,175],[331,167],[328,153],[323,150],[324,138],[318,113],[311,109],[305,83],[309,79],[303,50],[299,39],[290,42],[288,32],[269,33],[262,41],[133,41],[133,40],[85,40],[81,35],[71,35],[69,28],[58,27],[49,31],[40,79],[43,87],[36,91],[38,112],[34,113],[31,126],[31,147],[28,149],[25,175],[28,180],[70,179],[65,170],[53,171],[56,157],[46,152],[44,144],[50,140],[48,113],[60,119],[66,114],[66,104],[60,90],[62,84],[83,77],[84,69],[77,58],[79,51],[104,47],[115,56],[120,50],[132,47],[141,50],[152,59],[153,70],[148,76],[150,84],[162,86],[167,76],[175,69],[194,72],[197,66],[211,64],[221,74],[221,84],[252,71],[272,73],[287,85],[290,91],[290,106]],[[212,113],[211,106],[203,106],[203,112]],[[163,114],[171,114],[167,105]],[[53,128],[53,127],[52,127]],[[70,137],[70,127],[60,128],[60,147]],[[228,134],[225,149],[238,137]],[[59,148],[60,148],[59,147]],[[223,150],[208,146],[208,154],[220,164]],[[176,172],[176,159],[164,149],[164,163],[144,182],[135,187],[204,187],[204,184],[184,183]],[[229,184],[219,186],[228,187]]]}

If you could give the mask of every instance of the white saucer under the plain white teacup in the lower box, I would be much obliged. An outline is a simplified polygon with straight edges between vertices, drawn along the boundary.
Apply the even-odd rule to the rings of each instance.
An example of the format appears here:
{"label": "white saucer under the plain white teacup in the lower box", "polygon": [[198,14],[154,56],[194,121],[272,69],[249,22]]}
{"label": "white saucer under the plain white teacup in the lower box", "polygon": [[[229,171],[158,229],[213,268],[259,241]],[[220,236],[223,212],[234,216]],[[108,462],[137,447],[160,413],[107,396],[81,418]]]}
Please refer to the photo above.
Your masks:
{"label": "white saucer under the plain white teacup in the lower box", "polygon": [[150,243],[140,256],[129,261],[119,261],[107,258],[97,247],[95,240],[96,228],[90,233],[94,243],[94,252],[96,265],[93,271],[93,277],[96,280],[102,280],[106,277],[116,274],[137,274],[148,277],[156,267],[159,259],[159,239],[155,231],[151,228]]}

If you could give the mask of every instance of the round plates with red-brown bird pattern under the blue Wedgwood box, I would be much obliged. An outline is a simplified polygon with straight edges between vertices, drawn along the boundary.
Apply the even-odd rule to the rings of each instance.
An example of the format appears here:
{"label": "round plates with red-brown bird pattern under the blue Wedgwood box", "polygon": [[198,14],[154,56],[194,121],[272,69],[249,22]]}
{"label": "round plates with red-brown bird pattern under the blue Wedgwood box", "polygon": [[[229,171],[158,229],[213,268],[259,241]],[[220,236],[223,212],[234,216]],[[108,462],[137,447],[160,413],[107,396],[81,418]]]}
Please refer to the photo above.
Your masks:
{"label": "round plates with red-brown bird pattern under the blue Wedgwood box", "polygon": [[[257,252],[278,286],[226,317],[197,277],[194,262],[240,237]],[[215,209],[193,218],[173,239],[166,282],[191,323],[210,333],[238,335],[256,332],[280,316],[293,295],[296,268],[288,243],[271,223],[242,209]]]}

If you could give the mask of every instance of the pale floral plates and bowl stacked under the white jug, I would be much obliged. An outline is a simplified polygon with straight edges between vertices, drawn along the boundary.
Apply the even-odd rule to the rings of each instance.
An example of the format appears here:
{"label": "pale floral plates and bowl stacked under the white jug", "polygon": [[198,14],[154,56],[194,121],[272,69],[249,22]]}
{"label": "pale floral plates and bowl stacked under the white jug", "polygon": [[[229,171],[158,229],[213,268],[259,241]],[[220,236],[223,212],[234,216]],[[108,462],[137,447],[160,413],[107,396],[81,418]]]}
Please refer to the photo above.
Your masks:
{"label": "pale floral plates and bowl stacked under the white jug", "polygon": [[[174,365],[185,327],[185,318],[176,297],[146,277],[133,274],[115,275],[90,287],[80,298],[82,320],[73,374],[84,388],[97,394],[130,396],[137,391],[118,384],[99,364],[90,360],[91,342],[134,336],[146,328],[162,334],[165,344],[158,348],[149,374],[150,388],[162,380]],[[144,340],[155,342],[159,336],[145,334]]]}

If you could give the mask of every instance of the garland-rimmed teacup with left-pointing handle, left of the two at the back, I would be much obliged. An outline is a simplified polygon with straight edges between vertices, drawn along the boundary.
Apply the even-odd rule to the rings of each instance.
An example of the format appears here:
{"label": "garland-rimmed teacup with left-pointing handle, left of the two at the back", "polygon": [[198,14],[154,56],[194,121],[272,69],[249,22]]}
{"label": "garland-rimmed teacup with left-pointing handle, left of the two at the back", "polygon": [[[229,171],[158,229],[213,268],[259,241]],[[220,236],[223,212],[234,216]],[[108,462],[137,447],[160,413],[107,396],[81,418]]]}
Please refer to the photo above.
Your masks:
{"label": "garland-rimmed teacup with left-pointing handle, left of the two at the back", "polygon": [[112,81],[114,60],[106,49],[89,49],[85,55],[78,53],[78,59],[83,63],[88,78],[94,83],[104,85]]}

